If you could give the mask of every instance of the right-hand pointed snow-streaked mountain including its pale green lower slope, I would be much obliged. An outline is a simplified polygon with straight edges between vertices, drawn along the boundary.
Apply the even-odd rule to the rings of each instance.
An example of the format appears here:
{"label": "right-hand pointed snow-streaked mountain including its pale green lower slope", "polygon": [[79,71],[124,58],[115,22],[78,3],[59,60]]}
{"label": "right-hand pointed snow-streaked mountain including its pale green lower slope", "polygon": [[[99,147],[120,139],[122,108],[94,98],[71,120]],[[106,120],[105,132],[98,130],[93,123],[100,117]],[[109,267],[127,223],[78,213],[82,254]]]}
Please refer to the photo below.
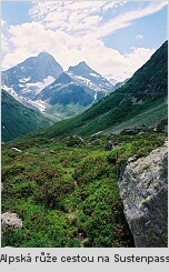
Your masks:
{"label": "right-hand pointed snow-streaked mountain including its pale green lower slope", "polygon": [[50,105],[50,111],[52,108],[54,114],[64,119],[84,111],[111,90],[112,84],[82,61],[62,72],[33,100]]}

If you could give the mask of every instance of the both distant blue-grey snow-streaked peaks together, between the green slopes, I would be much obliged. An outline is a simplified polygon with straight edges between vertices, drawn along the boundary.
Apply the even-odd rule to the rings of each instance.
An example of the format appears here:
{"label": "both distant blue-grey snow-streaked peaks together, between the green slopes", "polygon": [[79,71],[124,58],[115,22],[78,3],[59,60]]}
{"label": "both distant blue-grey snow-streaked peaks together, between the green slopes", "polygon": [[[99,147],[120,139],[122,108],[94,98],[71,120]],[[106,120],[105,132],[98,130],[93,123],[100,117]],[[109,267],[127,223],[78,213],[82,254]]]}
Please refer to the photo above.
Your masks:
{"label": "both distant blue-grey snow-streaked peaks together, between the green slopes", "polygon": [[84,111],[115,87],[84,61],[63,71],[47,52],[2,71],[2,89],[56,121]]}

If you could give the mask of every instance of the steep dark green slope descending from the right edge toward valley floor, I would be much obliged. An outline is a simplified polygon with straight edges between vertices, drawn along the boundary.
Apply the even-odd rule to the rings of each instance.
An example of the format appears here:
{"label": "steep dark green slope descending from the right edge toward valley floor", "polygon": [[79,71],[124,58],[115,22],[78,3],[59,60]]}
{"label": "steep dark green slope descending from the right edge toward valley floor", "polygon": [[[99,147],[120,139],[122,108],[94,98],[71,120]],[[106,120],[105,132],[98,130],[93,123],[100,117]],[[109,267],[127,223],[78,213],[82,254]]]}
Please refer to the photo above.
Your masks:
{"label": "steep dark green slope descending from the right edge toward valley floor", "polygon": [[[151,130],[168,119],[168,42],[166,41],[121,88],[83,113],[42,129],[34,135],[91,135],[125,129]],[[30,135],[31,137],[31,135]]]}

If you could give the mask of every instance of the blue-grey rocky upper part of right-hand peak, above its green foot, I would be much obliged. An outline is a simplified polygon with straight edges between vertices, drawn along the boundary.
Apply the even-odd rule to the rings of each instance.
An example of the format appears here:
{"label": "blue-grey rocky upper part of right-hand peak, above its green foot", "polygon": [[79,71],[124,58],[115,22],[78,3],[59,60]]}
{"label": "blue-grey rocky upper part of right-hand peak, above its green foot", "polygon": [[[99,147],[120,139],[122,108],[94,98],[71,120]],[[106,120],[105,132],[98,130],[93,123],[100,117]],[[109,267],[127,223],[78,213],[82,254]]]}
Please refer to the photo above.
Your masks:
{"label": "blue-grey rocky upper part of right-hand peak, above its green foot", "polygon": [[[92,81],[90,79],[92,79]],[[49,103],[59,103],[62,105],[78,103],[89,108],[101,97],[108,94],[111,88],[111,83],[82,61],[76,67],[69,68],[68,71],[62,72],[50,85],[41,90],[41,92],[34,97],[34,100],[48,100]],[[61,97],[63,97],[63,99],[61,99]],[[64,100],[67,100],[67,103]]]}

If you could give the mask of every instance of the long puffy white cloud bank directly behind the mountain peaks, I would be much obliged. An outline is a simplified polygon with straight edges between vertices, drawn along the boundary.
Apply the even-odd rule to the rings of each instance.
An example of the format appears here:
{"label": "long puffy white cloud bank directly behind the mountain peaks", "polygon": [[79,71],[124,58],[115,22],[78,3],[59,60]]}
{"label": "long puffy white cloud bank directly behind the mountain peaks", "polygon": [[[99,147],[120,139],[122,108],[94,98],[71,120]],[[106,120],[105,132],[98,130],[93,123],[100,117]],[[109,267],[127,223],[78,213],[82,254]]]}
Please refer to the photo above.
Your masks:
{"label": "long puffy white cloud bank directly behind the mountain peaks", "polygon": [[84,60],[102,75],[121,81],[130,77],[155,51],[133,48],[131,53],[122,56],[119,51],[107,48],[101,39],[91,37],[89,39],[88,36],[79,39],[61,31],[46,30],[38,22],[11,27],[9,32],[14,50],[6,54],[3,61],[6,69],[37,56],[40,51],[47,51],[56,58],[63,70]]}

